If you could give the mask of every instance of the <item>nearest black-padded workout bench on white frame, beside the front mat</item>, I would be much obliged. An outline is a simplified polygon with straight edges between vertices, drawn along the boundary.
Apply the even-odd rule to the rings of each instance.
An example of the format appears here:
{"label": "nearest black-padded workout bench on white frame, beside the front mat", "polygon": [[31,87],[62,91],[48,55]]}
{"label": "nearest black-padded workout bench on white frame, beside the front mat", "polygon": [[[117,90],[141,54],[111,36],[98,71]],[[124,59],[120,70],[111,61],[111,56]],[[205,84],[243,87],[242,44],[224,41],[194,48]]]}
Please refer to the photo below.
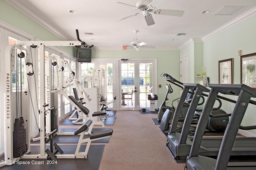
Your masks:
{"label": "nearest black-padded workout bench on white frame, beside the front mat", "polygon": [[[113,133],[113,129],[104,130],[104,131],[100,131],[100,132],[94,132],[94,133],[92,133],[92,135],[90,135],[89,138],[84,139],[84,135],[85,135],[84,131],[86,131],[86,129],[88,129],[88,127],[91,124],[92,124],[92,120],[90,119],[74,132],[74,135],[80,134],[80,138],[79,138],[79,141],[78,141],[78,144],[76,147],[76,152],[74,154],[74,158],[87,158],[88,150],[90,148],[92,141],[108,138]],[[82,143],[87,143],[87,145],[86,145],[84,152],[79,152]]]}

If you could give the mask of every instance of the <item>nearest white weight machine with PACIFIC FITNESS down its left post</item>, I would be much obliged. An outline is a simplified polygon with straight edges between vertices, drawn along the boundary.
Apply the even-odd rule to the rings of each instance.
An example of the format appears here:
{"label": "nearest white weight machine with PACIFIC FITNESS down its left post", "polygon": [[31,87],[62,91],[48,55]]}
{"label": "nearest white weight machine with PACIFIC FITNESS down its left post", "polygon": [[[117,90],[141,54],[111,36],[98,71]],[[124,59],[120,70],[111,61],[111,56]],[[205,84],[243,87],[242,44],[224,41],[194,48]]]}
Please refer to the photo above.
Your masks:
{"label": "nearest white weight machine with PACIFIC FITNESS down its left post", "polygon": [[[16,56],[19,56],[19,58],[22,58],[22,56],[26,56],[26,67],[21,68],[22,66],[20,66],[20,72],[24,72],[27,73],[28,75],[33,75],[33,68],[32,68],[32,63],[30,63],[30,58],[28,55],[27,50],[22,47],[22,46],[30,46],[30,47],[39,47],[40,50],[40,54],[39,54],[39,59],[40,59],[40,153],[39,154],[29,154],[31,152],[31,148],[30,148],[30,111],[28,108],[29,107],[29,103],[28,101],[30,101],[29,95],[30,92],[28,92],[28,83],[26,81],[24,81],[24,90],[22,90],[22,85],[20,84],[20,89],[14,93],[12,90],[12,74],[14,72],[14,70],[18,69],[17,65],[16,65]],[[50,77],[46,75],[46,70],[45,70],[45,57],[44,57],[44,51],[45,51],[45,46],[82,46],[84,44],[81,44],[81,41],[16,41],[15,45],[9,45],[6,49],[6,92],[4,94],[4,98],[5,98],[5,160],[10,160],[10,161],[16,161],[19,160],[21,158],[32,158],[32,159],[36,159],[36,158],[50,158],[52,160],[55,160],[56,158],[87,158],[87,154],[88,154],[88,149],[90,147],[90,142],[92,140],[96,140],[98,139],[103,139],[103,138],[107,138],[110,137],[110,135],[112,134],[112,132],[108,132],[108,133],[100,133],[97,137],[92,137],[90,139],[87,140],[79,140],[78,142],[78,147],[76,149],[75,154],[62,154],[63,151],[60,149],[60,147],[58,147],[58,145],[56,143],[52,144],[52,138],[54,136],[56,136],[56,129],[52,130],[50,127],[52,123],[52,121],[50,121],[50,112],[56,111],[55,117],[57,119],[57,124],[58,124],[58,109],[55,109],[53,104],[58,104],[58,100],[53,101],[52,100],[52,96],[56,96],[56,94],[60,93],[60,94],[64,94],[62,93],[62,89],[59,90],[59,92],[57,92],[58,90],[56,90],[55,88],[52,89],[52,87],[54,86],[50,86]],[[26,55],[25,55],[26,54]],[[20,57],[21,56],[21,57]],[[49,60],[55,60],[58,61],[58,63],[65,63],[66,61],[64,60],[60,60],[57,57],[54,58],[49,58]],[[48,60],[48,61],[49,61]],[[17,61],[19,61],[17,59]],[[53,62],[54,63],[54,62]],[[55,63],[54,63],[55,64]],[[54,65],[53,64],[53,65]],[[21,62],[20,62],[20,65]],[[66,63],[66,66],[68,64]],[[16,67],[16,68],[15,68]],[[24,69],[24,70],[22,70]],[[62,67],[59,68],[58,71],[60,71],[60,69],[62,69]],[[56,70],[57,71],[57,70]],[[48,72],[50,73],[50,72]],[[73,73],[72,73],[73,74]],[[24,76],[25,77],[25,76]],[[21,76],[20,76],[21,79]],[[72,79],[74,82],[76,82],[75,76],[73,74]],[[66,85],[68,85],[69,83],[67,82]],[[56,85],[56,83],[55,83]],[[64,84],[63,84],[64,85]],[[18,86],[18,84],[16,84],[16,86]],[[75,85],[76,86],[76,85]],[[45,88],[43,88],[45,87]],[[65,86],[63,86],[65,87]],[[79,85],[77,86],[78,89],[82,89]],[[79,92],[80,93],[80,92]],[[18,97],[14,97],[14,95],[18,94]],[[85,94],[85,93],[84,93]],[[65,94],[64,94],[65,95]],[[66,97],[66,96],[65,96]],[[16,99],[16,102],[14,102],[14,99]],[[22,101],[26,101],[23,102]],[[56,102],[57,101],[57,102]],[[71,102],[74,106],[77,106],[75,102]],[[23,106],[23,107],[21,107]],[[81,107],[78,107],[79,110],[81,111]],[[16,113],[19,113],[16,115],[16,117],[14,117],[15,115],[15,111]],[[23,113],[23,114],[22,114]],[[89,118],[90,116],[88,116],[87,118]],[[20,150],[22,152],[19,152],[17,155],[14,151],[14,147],[15,147],[15,143],[14,142],[14,130],[15,130],[15,125],[14,122],[15,120],[19,120],[21,123],[20,127],[18,128],[18,130],[23,131],[24,133],[19,134],[22,136],[22,146],[20,146]],[[23,121],[22,121],[23,119]],[[88,121],[86,121],[86,123],[81,126],[82,130],[79,129],[79,131],[77,131],[75,134],[87,134],[84,133],[84,131],[88,128],[89,125],[91,125],[91,123],[93,122],[92,119],[89,119]],[[73,133],[74,135],[74,133]],[[16,137],[15,137],[16,140]],[[51,144],[54,145],[54,147],[56,148],[55,151],[52,150],[52,145],[51,145],[51,150],[49,152],[49,150],[46,149],[46,143],[48,141],[51,141]],[[86,146],[86,150],[85,152],[79,152],[80,149],[80,145],[82,143],[88,143]],[[78,151],[77,151],[78,150]],[[46,154],[46,152],[50,153],[50,154]],[[56,154],[60,152],[60,154]],[[11,165],[11,164],[9,164]]]}

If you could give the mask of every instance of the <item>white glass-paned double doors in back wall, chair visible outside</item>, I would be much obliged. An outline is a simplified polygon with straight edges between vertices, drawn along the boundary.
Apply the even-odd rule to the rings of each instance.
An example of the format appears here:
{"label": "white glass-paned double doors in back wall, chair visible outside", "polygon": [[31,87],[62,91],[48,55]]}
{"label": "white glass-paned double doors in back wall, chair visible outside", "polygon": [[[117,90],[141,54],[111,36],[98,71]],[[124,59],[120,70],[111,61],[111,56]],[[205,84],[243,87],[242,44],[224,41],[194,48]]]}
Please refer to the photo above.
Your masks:
{"label": "white glass-paned double doors in back wall, chair visible outside", "polygon": [[157,94],[155,62],[155,60],[119,61],[120,109],[150,108],[148,95]]}

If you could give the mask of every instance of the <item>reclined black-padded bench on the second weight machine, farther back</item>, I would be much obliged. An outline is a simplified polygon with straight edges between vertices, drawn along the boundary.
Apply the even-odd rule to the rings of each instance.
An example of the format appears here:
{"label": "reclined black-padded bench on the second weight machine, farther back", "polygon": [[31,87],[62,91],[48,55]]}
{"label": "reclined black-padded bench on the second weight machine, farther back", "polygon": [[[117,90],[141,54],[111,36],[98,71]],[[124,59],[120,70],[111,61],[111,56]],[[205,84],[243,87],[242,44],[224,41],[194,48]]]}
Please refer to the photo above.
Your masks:
{"label": "reclined black-padded bench on the second weight machine, farther back", "polygon": [[[86,135],[92,134],[92,128],[95,125],[96,121],[94,121],[94,119],[92,119],[92,117],[89,116],[90,111],[86,107],[84,107],[80,102],[78,102],[78,100],[76,100],[76,98],[74,98],[73,96],[68,96],[68,98],[73,102],[72,104],[78,109],[78,112],[82,111],[86,115],[86,117],[84,117],[84,118],[88,118],[88,119],[92,120],[92,123],[90,123],[91,125],[90,125]],[[92,114],[92,116],[93,117],[100,116],[100,118],[101,118],[101,115],[106,115],[106,114],[107,113],[104,111],[96,111]],[[78,115],[80,115],[80,114],[78,114]],[[105,124],[104,124],[104,121],[102,120],[102,118],[100,120],[101,120],[100,123],[101,123],[102,127],[105,127]]]}

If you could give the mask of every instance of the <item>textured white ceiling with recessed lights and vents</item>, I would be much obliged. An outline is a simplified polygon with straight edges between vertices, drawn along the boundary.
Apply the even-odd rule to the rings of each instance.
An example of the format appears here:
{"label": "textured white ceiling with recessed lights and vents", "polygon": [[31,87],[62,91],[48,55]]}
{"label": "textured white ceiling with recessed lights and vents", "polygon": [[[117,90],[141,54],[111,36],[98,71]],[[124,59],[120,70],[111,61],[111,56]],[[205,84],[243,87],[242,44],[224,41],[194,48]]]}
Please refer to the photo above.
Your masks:
{"label": "textured white ceiling with recessed lights and vents", "polygon": [[[119,0],[132,6],[112,3],[114,0],[4,0],[63,40],[80,39],[94,49],[122,49],[137,39],[156,49],[178,49],[191,39],[202,41],[256,13],[256,0],[167,0],[157,9],[184,10],[182,17],[152,14],[155,24],[148,26],[142,14],[114,22],[138,11],[138,0]],[[157,1],[157,0],[155,0]],[[214,15],[224,6],[246,6],[235,15]],[[71,14],[68,10],[76,10]],[[209,10],[207,14],[203,11]],[[217,31],[218,30],[218,31]],[[94,33],[85,35],[84,33]],[[178,37],[178,33],[186,33]],[[177,39],[173,41],[173,39]],[[130,49],[135,50],[135,49]],[[145,49],[142,49],[145,50]]]}

